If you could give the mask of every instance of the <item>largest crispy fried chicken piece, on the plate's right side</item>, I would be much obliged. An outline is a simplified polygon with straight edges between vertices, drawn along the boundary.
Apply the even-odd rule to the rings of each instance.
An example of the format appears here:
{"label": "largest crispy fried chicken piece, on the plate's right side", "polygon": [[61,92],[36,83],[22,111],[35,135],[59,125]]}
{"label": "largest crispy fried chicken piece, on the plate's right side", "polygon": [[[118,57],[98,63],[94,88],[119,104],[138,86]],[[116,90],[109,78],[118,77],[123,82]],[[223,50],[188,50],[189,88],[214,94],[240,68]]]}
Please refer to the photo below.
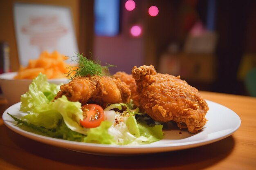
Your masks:
{"label": "largest crispy fried chicken piece, on the plate's right side", "polygon": [[138,86],[140,104],[154,120],[173,120],[179,128],[188,128],[192,133],[206,124],[207,103],[180,76],[157,73],[152,65],[135,66],[132,76]]}

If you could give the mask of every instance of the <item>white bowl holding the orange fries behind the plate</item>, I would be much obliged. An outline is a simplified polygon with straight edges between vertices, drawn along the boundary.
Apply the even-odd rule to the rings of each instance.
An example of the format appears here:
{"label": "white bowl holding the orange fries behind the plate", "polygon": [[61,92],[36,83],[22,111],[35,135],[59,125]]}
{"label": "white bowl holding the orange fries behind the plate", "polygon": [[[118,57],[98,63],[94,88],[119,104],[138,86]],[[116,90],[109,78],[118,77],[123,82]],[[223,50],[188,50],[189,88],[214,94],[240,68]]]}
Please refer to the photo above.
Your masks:
{"label": "white bowl holding the orange fries behind the plate", "polygon": [[[28,91],[33,81],[32,79],[13,79],[15,75],[17,72],[0,74],[0,86],[9,105],[20,102],[20,96]],[[65,84],[68,83],[68,79],[48,79],[48,82]]]}

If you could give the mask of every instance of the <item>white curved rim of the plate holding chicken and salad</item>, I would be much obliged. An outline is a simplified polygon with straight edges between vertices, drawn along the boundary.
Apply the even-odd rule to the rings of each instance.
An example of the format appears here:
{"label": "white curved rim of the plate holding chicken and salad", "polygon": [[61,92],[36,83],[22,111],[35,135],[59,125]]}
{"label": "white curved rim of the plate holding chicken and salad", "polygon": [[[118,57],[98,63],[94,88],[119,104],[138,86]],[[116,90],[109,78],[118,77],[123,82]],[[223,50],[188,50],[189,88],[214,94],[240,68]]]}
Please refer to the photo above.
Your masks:
{"label": "white curved rim of the plate holding chicken and salad", "polygon": [[[224,107],[228,110],[231,111],[232,114],[236,118],[238,118],[238,124],[236,127],[230,129],[227,131],[224,135],[222,134],[218,138],[207,138],[207,139],[201,139],[201,140],[196,140],[196,141],[187,141],[187,142],[182,142],[182,143],[170,143],[170,144],[159,144],[159,145],[152,145],[152,144],[144,144],[144,145],[138,145],[138,146],[133,146],[133,145],[124,145],[124,146],[119,146],[119,145],[108,145],[108,144],[94,144],[94,143],[85,143],[85,142],[79,142],[79,141],[68,141],[65,139],[58,139],[58,138],[53,138],[53,137],[47,137],[44,135],[39,135],[33,132],[29,132],[26,130],[23,130],[22,128],[19,128],[15,121],[9,121],[4,119],[4,117],[9,116],[7,115],[7,110],[11,109],[14,107],[14,105],[20,104],[20,102],[13,104],[9,108],[7,108],[3,115],[2,119],[4,121],[4,124],[13,130],[14,132],[27,137],[29,139],[44,143],[44,144],[49,144],[52,146],[57,146],[61,148],[67,148],[70,150],[76,150],[78,152],[85,152],[85,153],[90,153],[90,154],[110,154],[110,155],[118,155],[120,153],[122,154],[147,154],[147,153],[156,153],[156,152],[168,152],[168,151],[174,151],[174,150],[182,150],[182,149],[188,149],[188,148],[194,148],[198,146],[203,146],[207,144],[214,143],[216,141],[220,141],[226,137],[229,137],[232,135],[236,130],[241,125],[241,119],[238,116],[237,113],[235,113],[233,110],[230,108],[227,108],[226,106],[223,106],[221,104],[218,104],[216,102],[212,102],[210,100],[206,100],[207,103],[211,102],[213,104],[217,104],[221,107]],[[19,111],[20,112],[20,111]],[[68,147],[67,147],[68,145]],[[150,150],[149,150],[150,148]],[[105,150],[102,150],[105,149]]]}

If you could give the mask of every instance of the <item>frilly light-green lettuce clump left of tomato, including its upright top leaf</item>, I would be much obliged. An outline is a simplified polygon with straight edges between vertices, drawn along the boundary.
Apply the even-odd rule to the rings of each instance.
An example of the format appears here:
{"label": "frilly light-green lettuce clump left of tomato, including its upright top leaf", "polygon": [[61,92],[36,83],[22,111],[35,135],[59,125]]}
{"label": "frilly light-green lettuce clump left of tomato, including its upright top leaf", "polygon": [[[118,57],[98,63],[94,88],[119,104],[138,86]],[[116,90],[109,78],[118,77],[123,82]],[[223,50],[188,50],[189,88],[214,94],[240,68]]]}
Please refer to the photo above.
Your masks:
{"label": "frilly light-green lettuce clump left of tomato, including its upright top leaf", "polygon": [[30,111],[30,114],[22,119],[36,126],[51,129],[56,128],[58,121],[63,118],[71,130],[86,133],[79,122],[83,119],[81,103],[70,102],[65,96],[52,102],[59,90],[59,85],[50,84],[46,75],[40,73],[29,85],[29,91],[21,96],[20,110]]}

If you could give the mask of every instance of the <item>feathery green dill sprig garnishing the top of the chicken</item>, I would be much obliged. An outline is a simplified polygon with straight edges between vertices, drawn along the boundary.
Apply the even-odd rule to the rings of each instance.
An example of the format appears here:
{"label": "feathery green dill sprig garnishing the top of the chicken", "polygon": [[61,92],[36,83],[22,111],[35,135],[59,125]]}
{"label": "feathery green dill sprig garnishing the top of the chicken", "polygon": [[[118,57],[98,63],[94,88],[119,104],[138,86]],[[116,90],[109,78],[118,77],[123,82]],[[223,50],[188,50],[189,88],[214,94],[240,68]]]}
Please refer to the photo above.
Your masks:
{"label": "feathery green dill sprig garnishing the top of the chicken", "polygon": [[[90,53],[92,55],[92,53]],[[77,66],[69,66],[70,71],[67,73],[67,77],[70,80],[76,77],[83,77],[87,75],[107,75],[109,67],[113,67],[113,65],[108,64],[107,66],[101,66],[99,60],[91,60],[83,56],[82,54],[76,53],[75,60],[72,61],[77,63]],[[74,75],[73,75],[74,73]]]}

